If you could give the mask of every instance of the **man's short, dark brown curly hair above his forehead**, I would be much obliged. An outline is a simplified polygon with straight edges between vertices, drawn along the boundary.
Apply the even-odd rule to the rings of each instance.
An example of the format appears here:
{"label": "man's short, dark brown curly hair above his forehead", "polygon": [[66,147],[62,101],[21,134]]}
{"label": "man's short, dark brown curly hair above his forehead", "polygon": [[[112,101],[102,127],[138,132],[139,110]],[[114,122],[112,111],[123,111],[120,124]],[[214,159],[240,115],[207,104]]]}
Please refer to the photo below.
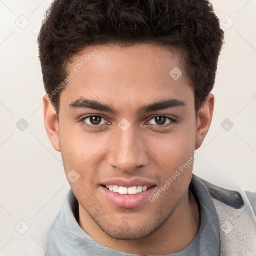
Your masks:
{"label": "man's short, dark brown curly hair above his forehead", "polygon": [[38,35],[43,83],[57,114],[61,91],[51,92],[67,77],[68,62],[86,46],[107,43],[179,49],[198,112],[214,86],[223,41],[207,0],[55,0]]}

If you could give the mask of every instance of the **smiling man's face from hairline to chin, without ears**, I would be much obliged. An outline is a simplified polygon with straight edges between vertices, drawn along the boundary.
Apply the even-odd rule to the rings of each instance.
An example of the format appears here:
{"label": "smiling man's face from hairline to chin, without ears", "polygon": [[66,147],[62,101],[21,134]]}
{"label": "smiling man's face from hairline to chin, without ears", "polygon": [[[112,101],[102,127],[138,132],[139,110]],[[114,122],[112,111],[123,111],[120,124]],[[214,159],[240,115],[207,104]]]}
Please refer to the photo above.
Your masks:
{"label": "smiling man's face from hairline to chin, without ears", "polygon": [[76,74],[61,93],[53,146],[72,171],[80,217],[116,239],[147,237],[182,202],[193,164],[180,166],[198,147],[180,55],[150,44],[89,46],[68,70]]}

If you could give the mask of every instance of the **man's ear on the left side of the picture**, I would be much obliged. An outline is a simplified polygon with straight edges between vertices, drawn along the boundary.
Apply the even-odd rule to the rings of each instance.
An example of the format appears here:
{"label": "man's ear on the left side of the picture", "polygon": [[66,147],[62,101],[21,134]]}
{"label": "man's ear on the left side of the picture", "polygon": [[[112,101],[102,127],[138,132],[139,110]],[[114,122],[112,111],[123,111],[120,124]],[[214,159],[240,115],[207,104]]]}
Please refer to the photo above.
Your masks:
{"label": "man's ear on the left side of the picture", "polygon": [[51,100],[45,94],[43,100],[43,114],[44,125],[50,142],[55,150],[60,152],[59,137],[58,137],[58,120],[55,108],[53,107]]}

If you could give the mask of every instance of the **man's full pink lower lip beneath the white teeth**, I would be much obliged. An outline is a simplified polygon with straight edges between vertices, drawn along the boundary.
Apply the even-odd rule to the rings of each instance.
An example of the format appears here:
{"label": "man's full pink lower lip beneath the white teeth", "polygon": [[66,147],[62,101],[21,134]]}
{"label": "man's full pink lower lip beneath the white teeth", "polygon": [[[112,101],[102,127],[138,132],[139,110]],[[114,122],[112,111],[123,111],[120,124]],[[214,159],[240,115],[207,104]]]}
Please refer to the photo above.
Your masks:
{"label": "man's full pink lower lip beneath the white teeth", "polygon": [[123,208],[135,208],[141,205],[143,202],[149,200],[149,196],[154,191],[155,186],[151,186],[146,191],[136,194],[119,194],[110,191],[104,186],[101,186],[101,188],[107,199],[114,205]]}

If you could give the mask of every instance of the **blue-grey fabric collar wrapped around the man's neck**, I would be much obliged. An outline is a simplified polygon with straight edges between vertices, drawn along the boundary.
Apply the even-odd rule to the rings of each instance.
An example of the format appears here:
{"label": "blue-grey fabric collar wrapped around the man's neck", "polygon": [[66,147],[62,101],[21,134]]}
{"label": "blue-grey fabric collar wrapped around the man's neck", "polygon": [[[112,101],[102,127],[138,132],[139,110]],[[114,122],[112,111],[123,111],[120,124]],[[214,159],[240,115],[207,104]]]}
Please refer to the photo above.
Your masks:
{"label": "blue-grey fabric collar wrapped around the man's neck", "polygon": [[[195,175],[189,186],[200,212],[200,228],[193,242],[180,252],[168,256],[219,256],[219,220],[211,196]],[[71,188],[50,226],[45,256],[134,256],[104,247],[94,241],[78,224],[78,201]],[[166,255],[167,256],[167,255]]]}

